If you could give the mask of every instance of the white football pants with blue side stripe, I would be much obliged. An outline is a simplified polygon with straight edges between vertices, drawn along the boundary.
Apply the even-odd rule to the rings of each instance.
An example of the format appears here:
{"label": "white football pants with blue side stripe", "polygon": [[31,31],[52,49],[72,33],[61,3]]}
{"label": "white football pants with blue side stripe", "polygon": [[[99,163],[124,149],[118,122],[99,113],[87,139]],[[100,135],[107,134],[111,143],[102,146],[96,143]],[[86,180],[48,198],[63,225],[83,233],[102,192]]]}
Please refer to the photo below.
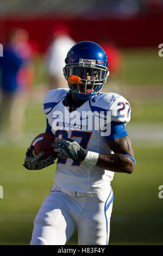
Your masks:
{"label": "white football pants with blue side stripe", "polygon": [[112,201],[111,186],[96,196],[53,186],[36,215],[30,245],[65,245],[75,227],[79,245],[108,245]]}

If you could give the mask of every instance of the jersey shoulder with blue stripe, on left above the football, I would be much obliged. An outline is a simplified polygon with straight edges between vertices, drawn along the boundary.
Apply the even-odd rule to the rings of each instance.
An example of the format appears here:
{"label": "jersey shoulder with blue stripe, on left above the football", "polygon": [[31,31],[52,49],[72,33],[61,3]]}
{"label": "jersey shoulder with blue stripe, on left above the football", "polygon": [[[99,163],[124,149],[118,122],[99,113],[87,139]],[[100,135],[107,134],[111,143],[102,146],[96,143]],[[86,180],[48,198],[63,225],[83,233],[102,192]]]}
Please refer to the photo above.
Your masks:
{"label": "jersey shoulder with blue stripe, on left above the football", "polygon": [[66,96],[69,89],[53,89],[49,90],[46,94],[45,99],[43,100],[42,112],[47,114],[52,110],[57,103]]}

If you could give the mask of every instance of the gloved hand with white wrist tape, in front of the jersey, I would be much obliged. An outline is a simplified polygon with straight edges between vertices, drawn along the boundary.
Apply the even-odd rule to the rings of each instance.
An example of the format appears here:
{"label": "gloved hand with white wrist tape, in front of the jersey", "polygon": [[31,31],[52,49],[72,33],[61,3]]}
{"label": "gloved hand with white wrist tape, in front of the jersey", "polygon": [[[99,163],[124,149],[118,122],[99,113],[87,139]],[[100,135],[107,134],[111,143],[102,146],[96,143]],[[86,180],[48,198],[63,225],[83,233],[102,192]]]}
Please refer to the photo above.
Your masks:
{"label": "gloved hand with white wrist tape, in front of the jersey", "polygon": [[73,161],[83,161],[87,155],[87,150],[73,139],[55,139],[52,147],[54,152],[58,153],[58,157],[70,158]]}

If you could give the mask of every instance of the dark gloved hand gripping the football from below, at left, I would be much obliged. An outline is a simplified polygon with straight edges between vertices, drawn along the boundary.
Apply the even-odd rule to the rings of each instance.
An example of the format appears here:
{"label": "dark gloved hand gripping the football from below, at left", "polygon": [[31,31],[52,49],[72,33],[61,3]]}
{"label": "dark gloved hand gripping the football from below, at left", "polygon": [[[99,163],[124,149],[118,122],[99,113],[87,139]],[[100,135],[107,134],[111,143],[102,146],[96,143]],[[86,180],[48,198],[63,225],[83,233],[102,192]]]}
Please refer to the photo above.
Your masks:
{"label": "dark gloved hand gripping the football from below, at left", "polygon": [[57,158],[55,156],[49,156],[46,159],[40,160],[41,157],[45,154],[43,151],[41,151],[38,155],[35,157],[32,154],[34,146],[31,145],[26,152],[26,159],[24,160],[23,166],[26,167],[28,170],[40,170],[42,168],[45,168],[47,166],[50,166],[54,163],[54,160]]}

